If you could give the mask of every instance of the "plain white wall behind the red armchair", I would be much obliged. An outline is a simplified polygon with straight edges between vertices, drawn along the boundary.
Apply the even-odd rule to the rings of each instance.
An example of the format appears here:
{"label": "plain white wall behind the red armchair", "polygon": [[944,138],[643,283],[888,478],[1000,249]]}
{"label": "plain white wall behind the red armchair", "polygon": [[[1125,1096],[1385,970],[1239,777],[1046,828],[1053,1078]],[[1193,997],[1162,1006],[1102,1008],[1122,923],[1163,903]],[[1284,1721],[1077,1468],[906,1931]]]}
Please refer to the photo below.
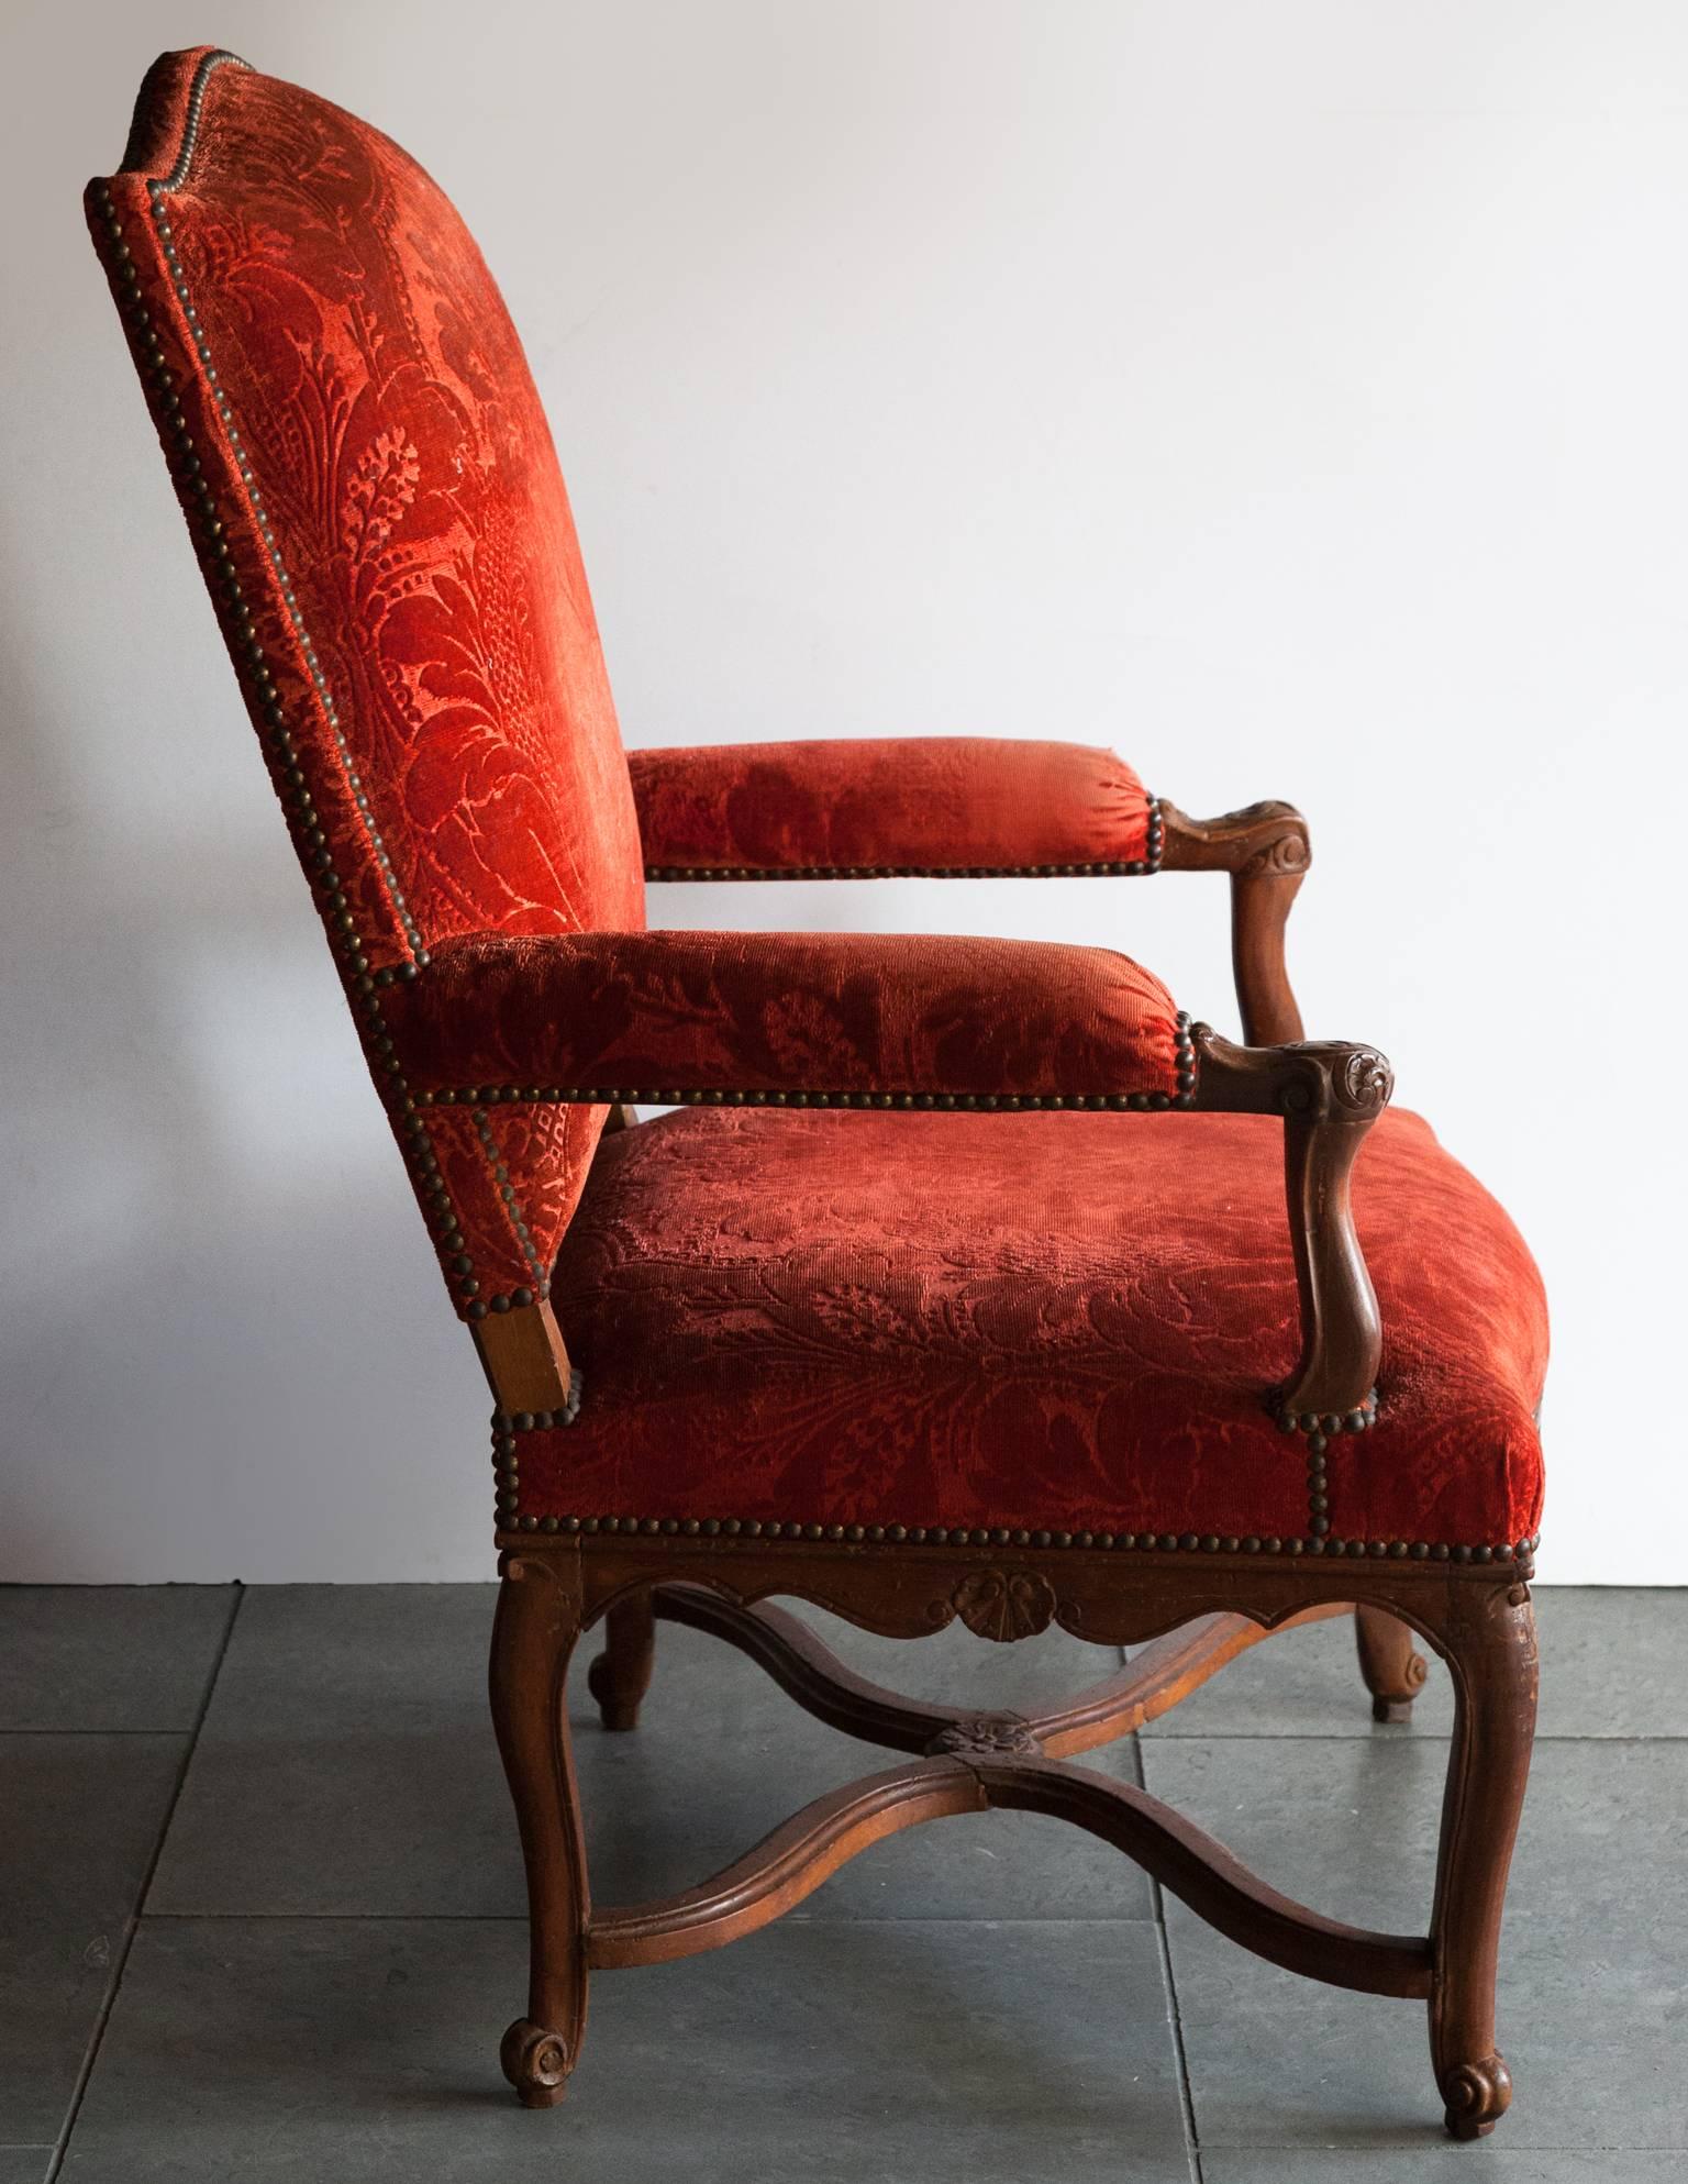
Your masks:
{"label": "plain white wall behind the red armchair", "polygon": [[[1118,740],[1188,810],[1308,810],[1310,1029],[1546,1269],[1542,1570],[1679,1581],[1688,11],[469,20],[9,15],[0,1572],[489,1568],[487,1393],[81,232],[146,61],[214,35],[478,229],[629,743]],[[1107,939],[1229,1022],[1216,880],[655,915]]]}

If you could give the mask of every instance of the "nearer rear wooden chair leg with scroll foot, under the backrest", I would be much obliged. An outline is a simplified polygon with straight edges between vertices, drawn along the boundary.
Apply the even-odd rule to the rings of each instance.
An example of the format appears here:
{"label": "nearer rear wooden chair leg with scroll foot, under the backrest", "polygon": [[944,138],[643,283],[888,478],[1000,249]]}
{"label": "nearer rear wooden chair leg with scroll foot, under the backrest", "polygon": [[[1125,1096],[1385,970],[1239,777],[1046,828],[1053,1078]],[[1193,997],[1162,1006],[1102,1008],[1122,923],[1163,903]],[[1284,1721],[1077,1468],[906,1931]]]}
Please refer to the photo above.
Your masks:
{"label": "nearer rear wooden chair leg with scroll foot, under the backrest", "polygon": [[504,1557],[491,1636],[491,1717],[528,1876],[528,2014],[498,2053],[524,2108],[555,2108],[585,2031],[585,1841],[568,1741],[579,1575]]}

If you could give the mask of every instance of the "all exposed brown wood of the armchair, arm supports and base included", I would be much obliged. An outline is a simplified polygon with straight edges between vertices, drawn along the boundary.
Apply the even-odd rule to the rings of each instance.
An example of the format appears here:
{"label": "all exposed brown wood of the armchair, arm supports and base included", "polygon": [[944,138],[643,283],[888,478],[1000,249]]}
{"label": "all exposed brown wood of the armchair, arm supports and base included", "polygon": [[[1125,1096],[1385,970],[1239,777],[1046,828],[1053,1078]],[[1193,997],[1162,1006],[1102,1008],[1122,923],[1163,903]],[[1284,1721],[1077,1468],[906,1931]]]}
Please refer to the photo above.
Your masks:
{"label": "all exposed brown wood of the armchair, arm supports and base included", "polygon": [[[1382,1112],[1389,1064],[1365,1046],[1301,1042],[1284,968],[1284,924],[1308,867],[1301,815],[1256,804],[1192,821],[1162,806],[1162,869],[1232,878],[1232,957],[1245,1040],[1194,1029],[1194,1112],[1284,1118],[1291,1241],[1301,1293],[1301,1358],[1280,1393],[1284,1422],[1319,1452],[1365,1426],[1378,1367],[1378,1308],[1354,1236],[1347,1177]],[[625,1127],[627,1116],[614,1118]],[[1129,1129],[1127,1118],[1120,1127]],[[576,1400],[548,1304],[476,1326],[502,1413]],[[1264,1393],[1264,1391],[1262,1391]],[[1315,1455],[1315,1463],[1319,1457]],[[531,1524],[533,1520],[528,1520]],[[795,1527],[790,1527],[795,1529]],[[810,1527],[817,1531],[819,1527]],[[771,1527],[777,1531],[777,1527]],[[1116,1843],[1162,1887],[1256,1955],[1310,1979],[1428,2005],[1430,2060],[1457,2138],[1494,2129],[1511,2079],[1494,2042],[1500,1909],[1535,1721],[1535,1627],[1526,1551],[1404,1559],[1406,1542],[1341,1555],[1310,1522],[1304,1555],[1260,1542],[1186,1542],[1201,1553],[1085,1544],[1020,1546],[983,1535],[943,1544],[843,1538],[729,1538],[701,1527],[500,1531],[491,1708],[528,1878],[531,1981],[502,2066],[528,2108],[563,2097],[581,2051],[594,1970],[718,1948],[817,1889],[847,1859],[902,1828],[989,1806],[1039,1811]],[[1271,1542],[1273,1546],[1277,1542]],[[1428,1551],[1424,1551],[1428,1557]],[[1031,1638],[1053,1623],[1103,1645],[1149,1645],[1129,1669],[1037,1717],[902,1699],[863,1682],[793,1616],[808,1601],[863,1629],[919,1638],[956,1616],[980,1638]],[[1402,1721],[1424,1682],[1419,1634],[1454,1679],[1437,1889],[1424,1935],[1345,1926],[1291,1902],[1201,1828],[1131,1784],[1072,1758],[1175,1706],[1236,1653],[1293,1623],[1356,1614],[1358,1664],[1380,1721]],[[664,1902],[594,1911],[581,1835],[566,1675],[583,1631],[605,1625],[590,1688],[605,1730],[638,1721],[655,1623],[686,1623],[758,1660],[808,1712],[906,1754],[817,1800],[712,1880]]]}

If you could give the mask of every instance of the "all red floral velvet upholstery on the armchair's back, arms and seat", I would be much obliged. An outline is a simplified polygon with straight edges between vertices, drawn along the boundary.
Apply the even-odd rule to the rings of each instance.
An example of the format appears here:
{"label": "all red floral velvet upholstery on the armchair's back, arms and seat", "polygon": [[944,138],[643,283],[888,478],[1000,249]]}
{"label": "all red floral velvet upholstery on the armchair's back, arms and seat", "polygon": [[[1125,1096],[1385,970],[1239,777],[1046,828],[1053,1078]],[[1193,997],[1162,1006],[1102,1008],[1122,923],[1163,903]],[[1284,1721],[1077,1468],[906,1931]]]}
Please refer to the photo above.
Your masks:
{"label": "all red floral velvet upholstery on the armchair's back, arms and seat", "polygon": [[1280,1123],[712,1107],[594,1164],[601,1090],[1181,1103],[1164,987],[1103,950],[642,930],[644,860],[1131,869],[1153,802],[1105,751],[915,738],[640,753],[635,812],[539,400],[428,177],[199,50],[87,212],[459,1310],[555,1282],[585,1372],[574,1426],[513,1426],[515,1522],[1535,1529],[1540,1284],[1411,1116],[1356,1177],[1382,1409],[1332,1439],[1330,1540],[1264,1409],[1299,1332]]}

